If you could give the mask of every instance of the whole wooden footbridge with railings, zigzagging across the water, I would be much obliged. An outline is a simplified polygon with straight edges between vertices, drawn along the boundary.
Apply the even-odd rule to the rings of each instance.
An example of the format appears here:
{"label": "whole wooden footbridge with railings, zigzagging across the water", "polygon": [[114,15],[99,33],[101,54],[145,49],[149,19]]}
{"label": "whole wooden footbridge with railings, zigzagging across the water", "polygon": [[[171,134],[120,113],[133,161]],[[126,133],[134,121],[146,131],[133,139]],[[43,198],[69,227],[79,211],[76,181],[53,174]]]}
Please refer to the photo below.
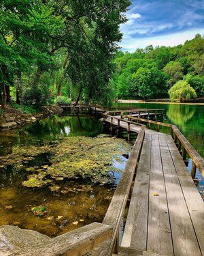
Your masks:
{"label": "whole wooden footbridge with railings, zigzagging across the water", "polygon": [[[17,255],[204,255],[204,203],[194,184],[197,171],[204,175],[203,158],[176,126],[143,118],[163,115],[161,110],[90,108],[103,113],[103,122],[116,132],[137,133],[103,223]],[[151,130],[152,124],[171,134]]]}

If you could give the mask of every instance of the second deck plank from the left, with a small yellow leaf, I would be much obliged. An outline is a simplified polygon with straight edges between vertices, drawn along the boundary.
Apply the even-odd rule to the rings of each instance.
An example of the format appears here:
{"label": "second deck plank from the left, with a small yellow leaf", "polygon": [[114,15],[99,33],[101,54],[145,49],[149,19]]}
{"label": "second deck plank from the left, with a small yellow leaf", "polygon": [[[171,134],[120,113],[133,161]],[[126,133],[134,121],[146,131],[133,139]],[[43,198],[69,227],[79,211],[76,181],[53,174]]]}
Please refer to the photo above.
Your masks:
{"label": "second deck plank from the left, with a small yellow leaf", "polygon": [[[158,193],[158,196],[155,196],[154,193]],[[147,251],[162,255],[173,255],[167,197],[157,135],[152,135],[147,249]]]}

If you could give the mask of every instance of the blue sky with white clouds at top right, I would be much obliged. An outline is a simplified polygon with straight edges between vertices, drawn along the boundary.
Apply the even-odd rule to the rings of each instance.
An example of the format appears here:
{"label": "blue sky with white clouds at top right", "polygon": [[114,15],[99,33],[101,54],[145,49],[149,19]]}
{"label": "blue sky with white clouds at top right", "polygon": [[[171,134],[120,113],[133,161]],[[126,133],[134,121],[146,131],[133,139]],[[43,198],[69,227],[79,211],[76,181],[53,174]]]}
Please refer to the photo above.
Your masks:
{"label": "blue sky with white clouds at top right", "polygon": [[184,44],[204,35],[204,0],[133,0],[120,26],[122,51]]}

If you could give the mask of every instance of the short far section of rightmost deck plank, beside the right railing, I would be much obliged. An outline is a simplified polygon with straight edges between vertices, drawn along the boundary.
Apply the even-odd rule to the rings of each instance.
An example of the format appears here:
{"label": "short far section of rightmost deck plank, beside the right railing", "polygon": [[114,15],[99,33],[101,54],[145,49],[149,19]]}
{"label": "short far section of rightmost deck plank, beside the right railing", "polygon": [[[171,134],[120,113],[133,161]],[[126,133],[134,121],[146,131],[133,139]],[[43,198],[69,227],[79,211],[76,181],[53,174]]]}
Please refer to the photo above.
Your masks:
{"label": "short far section of rightmost deck plank, beside the right railing", "polygon": [[173,159],[174,165],[175,165],[175,171],[177,172],[177,175],[186,175],[190,176],[188,173],[188,170],[186,168],[186,165],[184,163],[184,160],[182,156],[180,155],[180,152],[177,150],[177,147],[171,137],[171,135],[165,135],[167,139],[167,144],[169,147],[169,150],[171,152],[171,157]]}

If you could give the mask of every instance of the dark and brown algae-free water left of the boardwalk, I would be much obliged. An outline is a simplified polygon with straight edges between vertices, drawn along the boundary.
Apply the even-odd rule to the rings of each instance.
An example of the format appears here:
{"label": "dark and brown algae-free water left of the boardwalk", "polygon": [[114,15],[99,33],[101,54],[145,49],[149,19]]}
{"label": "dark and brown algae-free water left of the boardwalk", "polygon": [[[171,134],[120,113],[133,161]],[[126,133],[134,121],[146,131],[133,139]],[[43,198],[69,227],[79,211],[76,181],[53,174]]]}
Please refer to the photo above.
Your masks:
{"label": "dark and brown algae-free water left of the boardwalk", "polygon": [[[15,148],[55,145],[65,137],[97,137],[99,134],[103,134],[103,125],[96,119],[55,115],[29,126],[0,132],[0,153],[7,157],[15,152]],[[112,165],[118,171],[110,171],[114,182],[104,186],[80,179],[59,180],[56,185],[63,188],[61,193],[51,191],[48,187],[29,189],[22,186],[22,182],[29,176],[26,168],[49,166],[50,157],[50,153],[44,152],[31,160],[1,166],[0,225],[18,225],[54,237],[94,221],[103,221],[126,158],[122,155],[113,158]],[[39,205],[46,206],[46,214],[43,216],[33,214],[33,208]]]}

